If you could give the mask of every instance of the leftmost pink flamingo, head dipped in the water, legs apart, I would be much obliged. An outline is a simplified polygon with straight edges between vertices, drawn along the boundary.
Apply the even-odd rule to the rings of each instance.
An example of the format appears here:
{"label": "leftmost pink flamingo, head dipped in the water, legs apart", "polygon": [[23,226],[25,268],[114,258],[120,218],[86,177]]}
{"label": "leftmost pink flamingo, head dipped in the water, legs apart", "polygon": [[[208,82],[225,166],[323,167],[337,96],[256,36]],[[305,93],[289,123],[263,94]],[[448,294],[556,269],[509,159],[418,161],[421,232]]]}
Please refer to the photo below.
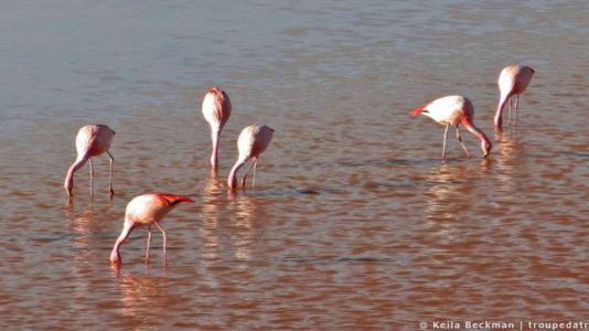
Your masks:
{"label": "leftmost pink flamingo, head dipped in the water, legs apart", "polygon": [[113,154],[108,151],[114,137],[115,131],[105,125],[85,125],[79,129],[76,136],[77,158],[72,167],[69,167],[69,170],[67,170],[64,182],[64,188],[65,191],[67,191],[68,196],[73,196],[74,174],[84,167],[88,160],[90,163],[90,195],[94,194],[94,168],[92,166],[92,157],[97,157],[104,152],[107,152],[110,157],[110,177],[108,185],[110,188],[110,196],[115,195],[115,191],[113,190],[113,163],[115,162],[115,158],[113,158]]}

